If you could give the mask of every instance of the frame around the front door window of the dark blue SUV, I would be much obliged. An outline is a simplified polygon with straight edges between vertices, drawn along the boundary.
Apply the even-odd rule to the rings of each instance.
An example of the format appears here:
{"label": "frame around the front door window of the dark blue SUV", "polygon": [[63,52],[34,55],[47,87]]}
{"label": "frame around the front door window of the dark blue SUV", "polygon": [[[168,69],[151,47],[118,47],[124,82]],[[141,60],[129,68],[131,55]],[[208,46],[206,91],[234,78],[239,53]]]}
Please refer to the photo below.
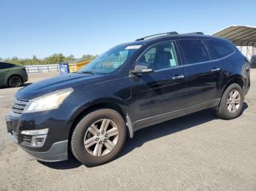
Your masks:
{"label": "frame around the front door window of the dark blue SUV", "polygon": [[146,48],[146,50],[144,50],[143,52],[140,53],[140,55],[138,56],[138,58],[135,60],[135,63],[132,64],[132,67],[131,69],[134,69],[136,64],[138,63],[138,60],[140,60],[140,58],[149,50],[151,49],[152,47],[154,46],[157,46],[159,44],[164,44],[164,43],[167,43],[167,42],[173,42],[173,47],[175,48],[175,51],[176,51],[176,57],[177,57],[177,60],[178,60],[178,66],[173,66],[173,67],[170,67],[170,68],[166,68],[166,69],[158,69],[158,70],[154,70],[154,72],[157,72],[157,71],[164,71],[164,70],[167,70],[167,69],[176,69],[178,67],[181,67],[181,66],[184,66],[183,64],[183,61],[182,61],[182,58],[181,58],[181,53],[180,51],[178,50],[178,45],[176,43],[176,40],[166,40],[166,41],[162,41],[162,42],[157,42],[155,44],[151,44],[149,47]]}

